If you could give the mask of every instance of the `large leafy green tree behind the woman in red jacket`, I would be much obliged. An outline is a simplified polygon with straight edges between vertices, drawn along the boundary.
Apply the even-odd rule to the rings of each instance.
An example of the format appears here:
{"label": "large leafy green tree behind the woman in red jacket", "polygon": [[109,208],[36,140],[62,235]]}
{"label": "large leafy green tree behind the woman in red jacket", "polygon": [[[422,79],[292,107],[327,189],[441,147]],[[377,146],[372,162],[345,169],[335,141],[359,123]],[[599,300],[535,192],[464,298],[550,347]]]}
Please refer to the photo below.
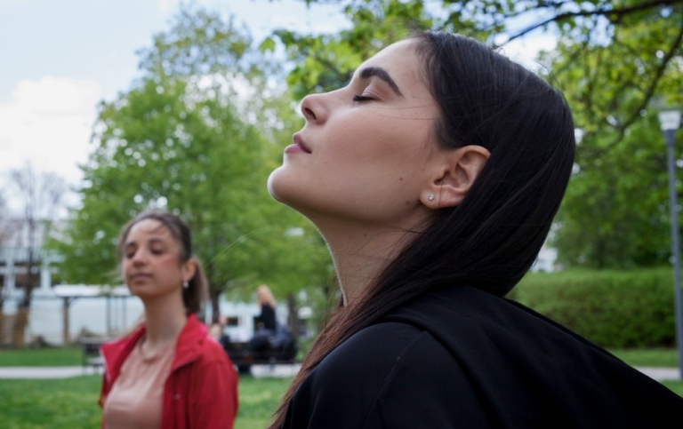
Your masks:
{"label": "large leafy green tree behind the woman in red jacket", "polygon": [[[322,246],[285,250],[286,231],[315,234],[266,189],[285,136],[291,139],[301,118],[286,89],[261,73],[257,66],[268,60],[250,44],[232,20],[183,8],[172,28],[140,52],[141,79],[100,105],[94,149],[82,166],[82,206],[53,244],[65,256],[66,280],[117,282],[119,229],[140,211],[164,208],[192,228],[213,314],[224,290],[270,280],[285,292],[309,286],[288,272],[310,274],[309,261],[322,258]],[[323,279],[325,269],[317,269]]]}

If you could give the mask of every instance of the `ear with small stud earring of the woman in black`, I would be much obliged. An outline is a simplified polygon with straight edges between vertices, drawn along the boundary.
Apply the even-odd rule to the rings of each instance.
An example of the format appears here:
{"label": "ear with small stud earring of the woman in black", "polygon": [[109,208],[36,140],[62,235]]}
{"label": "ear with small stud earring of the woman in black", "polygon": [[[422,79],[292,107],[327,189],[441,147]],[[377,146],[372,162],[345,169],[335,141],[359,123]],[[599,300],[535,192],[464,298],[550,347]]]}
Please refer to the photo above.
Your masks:
{"label": "ear with small stud earring of the woman in black", "polygon": [[470,187],[484,169],[491,153],[476,145],[458,147],[446,155],[446,163],[437,171],[420,195],[430,209],[455,207],[462,203]]}

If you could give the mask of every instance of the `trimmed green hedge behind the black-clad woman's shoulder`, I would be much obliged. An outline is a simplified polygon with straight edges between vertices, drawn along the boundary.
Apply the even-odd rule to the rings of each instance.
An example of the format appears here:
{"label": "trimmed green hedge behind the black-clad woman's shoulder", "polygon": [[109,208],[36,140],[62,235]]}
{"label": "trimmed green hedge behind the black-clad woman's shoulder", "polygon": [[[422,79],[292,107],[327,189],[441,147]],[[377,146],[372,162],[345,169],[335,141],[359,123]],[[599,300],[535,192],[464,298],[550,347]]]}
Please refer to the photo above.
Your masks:
{"label": "trimmed green hedge behind the black-clad woman's shoulder", "polygon": [[675,345],[671,267],[529,273],[514,299],[606,348]]}

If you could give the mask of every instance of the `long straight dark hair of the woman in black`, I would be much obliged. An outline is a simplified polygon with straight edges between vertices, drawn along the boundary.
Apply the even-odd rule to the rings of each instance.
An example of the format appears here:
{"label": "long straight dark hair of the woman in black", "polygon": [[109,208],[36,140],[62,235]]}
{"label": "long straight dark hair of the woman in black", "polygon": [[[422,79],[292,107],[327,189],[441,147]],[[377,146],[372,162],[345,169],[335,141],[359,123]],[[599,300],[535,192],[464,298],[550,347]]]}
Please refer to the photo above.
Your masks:
{"label": "long straight dark hair of the woman in black", "polygon": [[534,264],[574,162],[566,99],[485,44],[443,32],[417,40],[424,78],[441,109],[443,147],[486,147],[486,166],[458,207],[435,214],[361,297],[317,336],[269,427],[282,425],[303,379],[335,347],[407,300],[439,286],[503,296]]}

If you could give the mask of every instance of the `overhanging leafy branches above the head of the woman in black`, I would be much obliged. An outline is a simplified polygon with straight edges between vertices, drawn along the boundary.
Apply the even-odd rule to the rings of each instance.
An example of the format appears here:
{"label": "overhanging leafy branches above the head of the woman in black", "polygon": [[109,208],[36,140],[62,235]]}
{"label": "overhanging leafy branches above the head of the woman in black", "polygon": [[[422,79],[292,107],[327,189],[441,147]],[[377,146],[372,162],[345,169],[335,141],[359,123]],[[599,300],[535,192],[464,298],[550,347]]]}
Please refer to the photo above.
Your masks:
{"label": "overhanging leafy branches above the head of the woman in black", "polygon": [[[352,60],[343,55],[347,50],[366,57],[367,52],[372,55],[382,45],[405,36],[406,30],[436,28],[474,36],[501,47],[526,36],[557,38],[558,50],[546,53],[544,60],[559,60],[551,64],[553,74],[572,65],[573,73],[581,75],[583,91],[576,92],[576,101],[581,101],[583,106],[579,108],[586,110],[591,123],[604,122],[614,113],[614,108],[610,108],[616,102],[614,97],[603,95],[637,90],[638,96],[631,96],[631,106],[623,109],[623,118],[619,121],[622,133],[623,127],[638,120],[639,110],[657,98],[659,90],[679,88],[681,84],[683,0],[302,1],[339,4],[340,12],[349,18],[351,28],[337,36],[302,36],[276,31],[275,36],[284,35],[282,42],[292,52],[298,52],[292,55],[293,59],[298,59],[298,68],[292,72],[297,78],[303,77],[301,68],[306,68],[309,80],[314,80],[323,75],[319,70],[324,66],[328,74],[343,75],[348,70],[338,64]],[[311,49],[309,43],[315,40],[333,44],[318,44],[318,49]],[[338,54],[335,56],[334,52]],[[336,60],[335,65],[325,60],[330,55]],[[356,66],[358,62],[350,65],[351,68]],[[333,79],[327,75],[326,79],[316,82],[326,80]],[[344,82],[344,79],[337,82]],[[315,84],[308,87],[317,88]],[[324,84],[319,87],[325,89]],[[679,91],[671,91],[668,95],[678,103],[683,97]]]}

